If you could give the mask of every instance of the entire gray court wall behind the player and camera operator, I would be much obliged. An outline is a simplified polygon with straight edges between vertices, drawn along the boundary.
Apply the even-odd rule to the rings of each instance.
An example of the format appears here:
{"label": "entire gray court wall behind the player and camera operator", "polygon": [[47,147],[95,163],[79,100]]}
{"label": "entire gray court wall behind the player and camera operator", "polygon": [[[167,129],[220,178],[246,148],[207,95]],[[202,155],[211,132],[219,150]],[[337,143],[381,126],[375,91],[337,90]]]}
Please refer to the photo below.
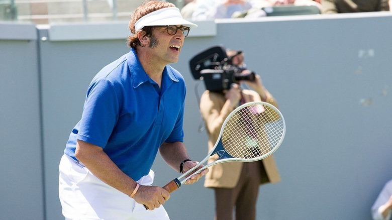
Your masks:
{"label": "entire gray court wall behind the player and camera operator", "polygon": [[[257,219],[370,219],[370,206],[392,178],[392,15],[198,24],[172,65],[187,82],[184,130],[191,157],[205,157],[207,135],[198,132],[197,82],[188,61],[217,44],[241,49],[287,124],[274,154],[282,181],[260,187]],[[38,32],[21,26],[0,24],[0,219],[63,219],[58,163],[90,80],[129,50],[127,24]],[[18,38],[26,26],[31,37]],[[196,90],[202,93],[204,85]],[[160,156],[153,169],[156,185],[178,176]],[[182,186],[165,204],[172,219],[195,220],[213,219],[213,206],[213,190],[203,181]]]}

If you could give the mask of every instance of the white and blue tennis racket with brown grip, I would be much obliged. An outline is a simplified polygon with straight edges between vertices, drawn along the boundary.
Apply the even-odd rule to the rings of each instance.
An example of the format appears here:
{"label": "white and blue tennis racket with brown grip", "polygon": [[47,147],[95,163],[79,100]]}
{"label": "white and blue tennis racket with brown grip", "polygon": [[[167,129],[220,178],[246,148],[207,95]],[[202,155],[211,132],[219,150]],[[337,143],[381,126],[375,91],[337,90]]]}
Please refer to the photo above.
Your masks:
{"label": "white and blue tennis racket with brown grip", "polygon": [[[285,133],[284,118],[275,106],[262,101],[242,104],[226,118],[218,141],[207,157],[162,188],[171,193],[190,176],[215,164],[230,161],[252,162],[264,159],[278,149],[283,142]],[[198,169],[215,154],[219,157],[217,160]],[[195,171],[196,169],[198,170]]]}

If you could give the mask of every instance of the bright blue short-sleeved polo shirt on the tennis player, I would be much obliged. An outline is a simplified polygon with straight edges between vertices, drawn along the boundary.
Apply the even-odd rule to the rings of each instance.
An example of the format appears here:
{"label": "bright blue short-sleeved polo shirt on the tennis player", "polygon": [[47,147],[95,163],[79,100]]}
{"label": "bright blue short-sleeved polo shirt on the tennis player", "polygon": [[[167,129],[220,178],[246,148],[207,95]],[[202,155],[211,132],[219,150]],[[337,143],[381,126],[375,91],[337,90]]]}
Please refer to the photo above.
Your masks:
{"label": "bright blue short-sleeved polo shirt on the tennis player", "polygon": [[76,140],[91,143],[139,180],[150,171],[163,142],[183,142],[185,92],[183,77],[169,65],[159,88],[132,49],[92,79],[64,153],[77,160]]}

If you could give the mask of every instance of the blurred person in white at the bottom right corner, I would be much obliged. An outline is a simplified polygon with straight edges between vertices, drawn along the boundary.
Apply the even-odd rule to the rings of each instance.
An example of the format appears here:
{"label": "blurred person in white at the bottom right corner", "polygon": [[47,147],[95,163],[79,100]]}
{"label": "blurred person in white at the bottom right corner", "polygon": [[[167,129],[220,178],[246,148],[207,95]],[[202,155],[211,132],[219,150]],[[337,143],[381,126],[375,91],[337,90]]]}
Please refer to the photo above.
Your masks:
{"label": "blurred person in white at the bottom right corner", "polygon": [[392,180],[382,188],[380,194],[371,207],[373,220],[389,220],[392,213]]}

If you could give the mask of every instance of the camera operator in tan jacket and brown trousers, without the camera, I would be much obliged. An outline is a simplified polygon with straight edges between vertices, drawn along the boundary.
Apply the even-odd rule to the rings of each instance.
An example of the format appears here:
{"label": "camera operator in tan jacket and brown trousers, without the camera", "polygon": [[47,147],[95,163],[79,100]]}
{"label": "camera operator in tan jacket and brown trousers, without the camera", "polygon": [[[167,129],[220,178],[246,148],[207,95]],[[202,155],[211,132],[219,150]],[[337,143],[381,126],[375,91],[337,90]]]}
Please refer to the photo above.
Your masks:
{"label": "camera operator in tan jacket and brown trousers, without the camera", "polygon": [[[242,70],[240,75],[248,75],[245,68],[244,54],[241,51],[226,50],[228,64]],[[223,91],[206,90],[201,97],[200,109],[209,135],[209,151],[218,139],[222,124],[227,116],[240,104],[250,101],[265,101],[277,107],[277,102],[263,86],[259,75],[248,80],[233,83],[230,89]],[[241,89],[240,84],[246,83],[251,89]],[[214,161],[216,158],[210,158]],[[211,162],[211,161],[210,161]],[[216,220],[255,219],[256,201],[259,185],[280,181],[279,172],[273,156],[256,162],[221,163],[210,168],[206,175],[205,187],[215,191]]]}

